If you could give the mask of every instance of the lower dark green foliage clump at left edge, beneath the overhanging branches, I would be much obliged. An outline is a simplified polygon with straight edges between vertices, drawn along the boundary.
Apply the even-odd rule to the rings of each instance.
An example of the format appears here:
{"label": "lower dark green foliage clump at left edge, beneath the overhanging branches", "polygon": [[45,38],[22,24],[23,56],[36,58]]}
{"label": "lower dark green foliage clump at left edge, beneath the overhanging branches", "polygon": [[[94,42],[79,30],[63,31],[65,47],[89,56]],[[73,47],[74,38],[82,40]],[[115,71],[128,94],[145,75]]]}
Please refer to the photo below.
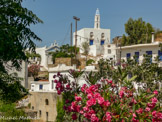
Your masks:
{"label": "lower dark green foliage clump at left edge, beneath the overhanging branches", "polygon": [[28,91],[21,85],[21,80],[16,74],[0,72],[0,100],[12,103],[27,95]]}

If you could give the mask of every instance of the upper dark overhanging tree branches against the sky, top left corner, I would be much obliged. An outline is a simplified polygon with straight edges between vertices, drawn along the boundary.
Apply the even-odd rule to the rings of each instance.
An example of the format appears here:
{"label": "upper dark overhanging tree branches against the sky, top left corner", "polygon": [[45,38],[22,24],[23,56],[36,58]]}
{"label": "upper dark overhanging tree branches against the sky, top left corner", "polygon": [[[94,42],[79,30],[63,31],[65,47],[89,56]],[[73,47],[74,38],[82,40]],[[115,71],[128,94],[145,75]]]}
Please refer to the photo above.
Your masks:
{"label": "upper dark overhanging tree branches against the sky, top left corner", "polygon": [[20,68],[27,60],[24,50],[35,51],[33,40],[41,39],[30,29],[31,24],[43,23],[32,11],[22,7],[23,0],[0,0],[0,70],[4,63]]}

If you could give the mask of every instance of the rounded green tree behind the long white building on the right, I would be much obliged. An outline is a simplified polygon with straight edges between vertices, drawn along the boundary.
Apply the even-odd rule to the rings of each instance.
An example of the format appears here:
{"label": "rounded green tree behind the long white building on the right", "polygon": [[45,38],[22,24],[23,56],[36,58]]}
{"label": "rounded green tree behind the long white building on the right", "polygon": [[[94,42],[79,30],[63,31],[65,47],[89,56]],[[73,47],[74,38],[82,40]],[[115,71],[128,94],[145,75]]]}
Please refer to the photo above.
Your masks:
{"label": "rounded green tree behind the long white building on the right", "polygon": [[138,20],[130,18],[125,24],[125,32],[127,36],[123,35],[122,45],[143,44],[151,42],[151,32],[154,32],[154,28],[142,18]]}

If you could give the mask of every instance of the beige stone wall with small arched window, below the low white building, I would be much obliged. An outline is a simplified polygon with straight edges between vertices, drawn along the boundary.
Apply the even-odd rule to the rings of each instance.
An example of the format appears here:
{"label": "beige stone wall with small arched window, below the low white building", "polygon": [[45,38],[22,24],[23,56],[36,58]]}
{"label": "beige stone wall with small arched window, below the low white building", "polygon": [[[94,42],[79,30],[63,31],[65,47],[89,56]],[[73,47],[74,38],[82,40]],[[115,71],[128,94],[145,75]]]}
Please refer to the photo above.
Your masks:
{"label": "beige stone wall with small arched window, below the low white building", "polygon": [[[29,103],[31,103],[31,110],[37,112],[37,118],[39,118],[39,121],[54,122],[57,116],[57,93],[30,92],[30,94]],[[46,103],[46,100],[48,100],[48,104]]]}

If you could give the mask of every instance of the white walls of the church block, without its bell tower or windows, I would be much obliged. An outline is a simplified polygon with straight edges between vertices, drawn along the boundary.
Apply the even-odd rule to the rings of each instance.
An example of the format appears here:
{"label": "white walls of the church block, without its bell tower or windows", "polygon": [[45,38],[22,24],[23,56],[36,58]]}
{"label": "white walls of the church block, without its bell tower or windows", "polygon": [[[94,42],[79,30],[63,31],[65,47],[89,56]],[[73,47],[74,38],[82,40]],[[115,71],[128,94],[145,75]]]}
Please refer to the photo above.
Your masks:
{"label": "white walls of the church block, without its bell tower or windows", "polygon": [[[94,29],[94,28],[83,28],[77,31],[77,47],[81,48],[83,42],[90,40],[90,33],[93,32],[93,45],[90,45],[90,55],[97,56],[103,54],[103,45],[100,45],[101,40],[105,40],[104,44],[110,43],[110,29]],[[101,38],[101,34],[104,33],[104,38]],[[73,45],[75,45],[75,33],[73,34]],[[83,53],[80,50],[80,53]]]}

